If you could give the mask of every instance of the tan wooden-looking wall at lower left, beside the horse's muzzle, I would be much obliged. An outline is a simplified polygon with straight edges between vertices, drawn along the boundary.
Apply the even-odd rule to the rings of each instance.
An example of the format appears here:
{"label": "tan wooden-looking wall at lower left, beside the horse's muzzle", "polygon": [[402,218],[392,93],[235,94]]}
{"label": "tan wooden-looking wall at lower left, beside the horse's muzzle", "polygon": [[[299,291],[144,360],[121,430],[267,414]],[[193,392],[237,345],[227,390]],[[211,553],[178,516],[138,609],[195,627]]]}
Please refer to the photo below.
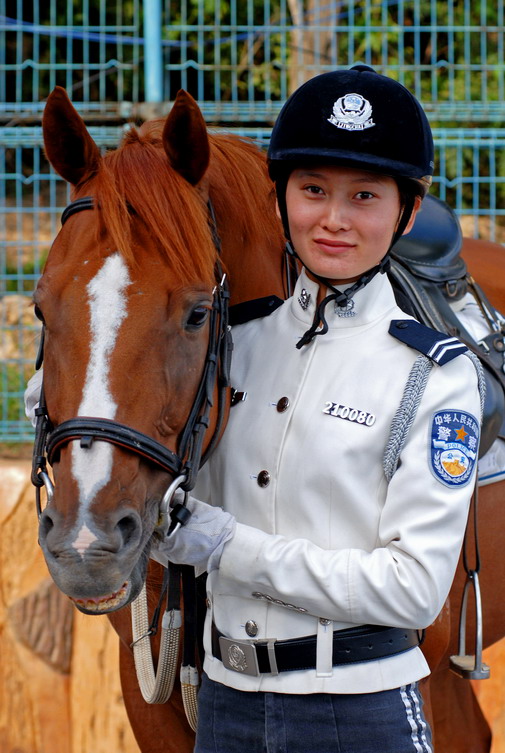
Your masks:
{"label": "tan wooden-looking wall at lower left, beside the horse's muzzle", "polygon": [[114,631],[49,578],[26,461],[0,460],[0,751],[139,751]]}

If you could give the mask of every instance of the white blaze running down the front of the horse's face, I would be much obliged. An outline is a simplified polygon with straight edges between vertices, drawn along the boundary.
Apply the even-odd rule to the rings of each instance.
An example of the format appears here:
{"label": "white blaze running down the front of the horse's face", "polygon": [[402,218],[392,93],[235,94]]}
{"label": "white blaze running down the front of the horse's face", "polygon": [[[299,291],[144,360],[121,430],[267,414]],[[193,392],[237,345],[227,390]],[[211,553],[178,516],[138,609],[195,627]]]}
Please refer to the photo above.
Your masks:
{"label": "white blaze running down the front of the horse's face", "polygon": [[[127,316],[125,290],[130,284],[128,268],[118,253],[107,257],[100,271],[88,283],[90,358],[79,416],[113,419],[116,415],[117,405],[110,391],[110,357],[119,328]],[[80,504],[85,509],[110,480],[112,449],[108,442],[94,442],[89,449],[81,448],[78,440],[72,442],[72,474],[79,487]],[[79,544],[76,548],[82,554],[83,537],[79,536],[80,533],[75,544]]]}

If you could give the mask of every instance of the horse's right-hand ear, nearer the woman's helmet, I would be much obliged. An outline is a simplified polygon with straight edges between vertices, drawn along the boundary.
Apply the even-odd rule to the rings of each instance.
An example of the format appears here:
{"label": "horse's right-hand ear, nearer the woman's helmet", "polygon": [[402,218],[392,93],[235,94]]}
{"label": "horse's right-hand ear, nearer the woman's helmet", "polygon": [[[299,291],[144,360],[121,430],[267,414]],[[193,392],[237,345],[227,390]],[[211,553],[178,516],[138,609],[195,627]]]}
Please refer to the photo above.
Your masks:
{"label": "horse's right-hand ear, nearer the woman's helmet", "polygon": [[177,93],[165,122],[163,146],[174,170],[196,186],[209,166],[209,138],[200,108],[184,89]]}

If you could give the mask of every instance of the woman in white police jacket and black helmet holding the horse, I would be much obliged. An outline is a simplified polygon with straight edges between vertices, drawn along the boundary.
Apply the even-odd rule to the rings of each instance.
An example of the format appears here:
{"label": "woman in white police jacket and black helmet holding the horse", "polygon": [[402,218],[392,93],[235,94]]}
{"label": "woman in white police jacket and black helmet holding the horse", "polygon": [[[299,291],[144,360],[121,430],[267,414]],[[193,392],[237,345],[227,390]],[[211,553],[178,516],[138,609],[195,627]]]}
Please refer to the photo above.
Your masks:
{"label": "woman in white police jacket and black helmet holding the horse", "polygon": [[269,165],[301,274],[234,328],[244,399],[153,553],[209,573],[195,750],[428,753],[419,640],[454,576],[481,420],[471,355],[384,274],[431,182],[430,128],[359,65],[290,97]]}

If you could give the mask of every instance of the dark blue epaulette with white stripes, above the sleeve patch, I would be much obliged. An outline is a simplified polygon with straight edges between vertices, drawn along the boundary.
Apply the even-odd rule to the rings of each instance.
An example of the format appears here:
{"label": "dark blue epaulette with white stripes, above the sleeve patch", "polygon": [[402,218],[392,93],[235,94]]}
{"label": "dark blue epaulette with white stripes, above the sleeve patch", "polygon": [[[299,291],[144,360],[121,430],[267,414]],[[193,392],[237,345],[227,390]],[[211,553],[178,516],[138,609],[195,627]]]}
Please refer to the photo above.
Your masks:
{"label": "dark blue epaulette with white stripes, above the sleeve patch", "polygon": [[439,366],[468,350],[457,337],[426,327],[414,319],[393,319],[389,334],[410,348],[424,353]]}

